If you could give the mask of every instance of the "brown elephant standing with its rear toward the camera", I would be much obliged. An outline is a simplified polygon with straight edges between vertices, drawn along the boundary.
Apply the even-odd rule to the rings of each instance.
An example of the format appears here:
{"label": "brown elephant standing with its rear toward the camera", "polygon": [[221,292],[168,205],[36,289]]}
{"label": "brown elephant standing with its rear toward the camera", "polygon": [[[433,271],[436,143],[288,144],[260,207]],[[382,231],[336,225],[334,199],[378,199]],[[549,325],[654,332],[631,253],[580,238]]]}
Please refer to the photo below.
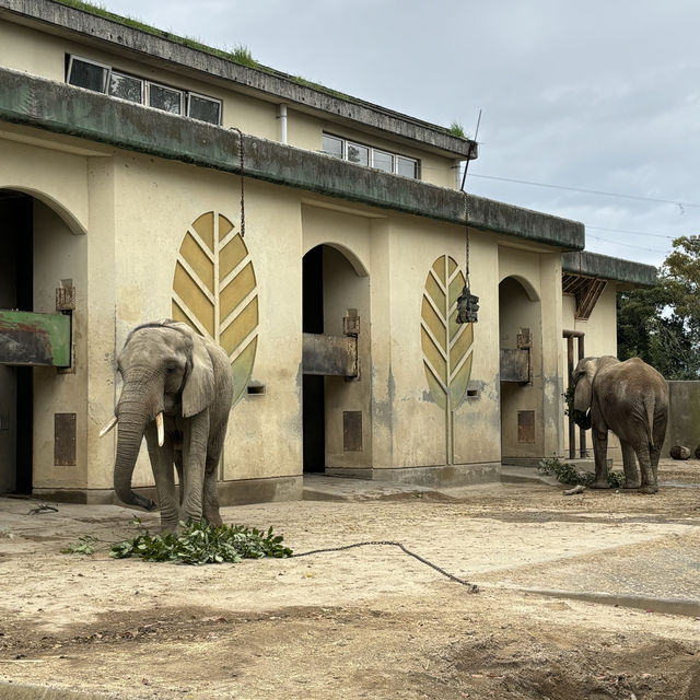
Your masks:
{"label": "brown elephant standing with its rear toward the camera", "polygon": [[625,488],[656,493],[658,457],[668,418],[666,380],[640,358],[620,362],[611,355],[583,358],[572,380],[573,408],[585,411],[592,423],[595,454],[592,488],[609,488],[607,448],[611,430],[622,447]]}

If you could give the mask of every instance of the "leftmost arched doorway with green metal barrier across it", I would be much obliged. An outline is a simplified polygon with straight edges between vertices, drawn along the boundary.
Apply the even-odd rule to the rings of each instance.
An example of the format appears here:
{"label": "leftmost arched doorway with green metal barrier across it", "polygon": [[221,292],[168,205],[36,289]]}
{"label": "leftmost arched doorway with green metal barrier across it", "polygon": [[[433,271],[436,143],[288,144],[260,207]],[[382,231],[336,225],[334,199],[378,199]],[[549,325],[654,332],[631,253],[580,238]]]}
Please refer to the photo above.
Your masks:
{"label": "leftmost arched doorway with green metal barrier across it", "polygon": [[77,464],[75,413],[34,419],[35,401],[42,410],[61,388],[56,368],[71,364],[71,312],[57,312],[56,290],[74,275],[84,281],[86,246],[74,233],[84,231],[50,197],[0,188],[0,493],[32,493],[37,445],[52,452],[47,472]]}

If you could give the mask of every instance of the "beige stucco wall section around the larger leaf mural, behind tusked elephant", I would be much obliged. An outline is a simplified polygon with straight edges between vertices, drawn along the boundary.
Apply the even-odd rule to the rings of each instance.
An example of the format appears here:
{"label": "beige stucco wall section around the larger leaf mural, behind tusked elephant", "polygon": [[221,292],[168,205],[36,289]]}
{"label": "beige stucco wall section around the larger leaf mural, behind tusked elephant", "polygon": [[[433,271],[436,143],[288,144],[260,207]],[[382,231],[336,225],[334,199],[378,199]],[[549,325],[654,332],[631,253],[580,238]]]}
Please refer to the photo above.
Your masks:
{"label": "beige stucco wall section around the larger leaf mural, behind tusked elephant", "polygon": [[[237,178],[138,155],[115,160],[117,348],[130,329],[168,317],[173,275],[187,228],[207,211],[236,223]],[[246,186],[246,235],[259,293],[259,340],[253,380],[265,394],[244,394],[224,447],[224,479],[301,472],[301,218],[298,196],[270,185]],[[133,253],[138,252],[138,255]],[[261,440],[260,435],[266,439]],[[137,483],[151,481],[144,451]]]}

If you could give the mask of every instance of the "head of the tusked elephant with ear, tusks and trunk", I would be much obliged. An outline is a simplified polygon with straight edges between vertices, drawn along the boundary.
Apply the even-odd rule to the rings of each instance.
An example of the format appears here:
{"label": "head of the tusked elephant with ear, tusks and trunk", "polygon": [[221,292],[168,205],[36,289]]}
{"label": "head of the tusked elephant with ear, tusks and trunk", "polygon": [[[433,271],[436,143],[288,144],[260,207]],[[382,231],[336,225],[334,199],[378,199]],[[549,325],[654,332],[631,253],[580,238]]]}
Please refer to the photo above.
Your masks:
{"label": "head of the tusked elephant with ear, tusks and trunk", "polygon": [[203,340],[187,325],[165,320],[135,328],[119,353],[124,380],[115,417],[118,425],[114,489],[124,503],[148,510],[155,503],[131,490],[131,477],[147,427],[155,421],[163,445],[163,416],[177,419],[205,410],[213,400],[214,372]]}

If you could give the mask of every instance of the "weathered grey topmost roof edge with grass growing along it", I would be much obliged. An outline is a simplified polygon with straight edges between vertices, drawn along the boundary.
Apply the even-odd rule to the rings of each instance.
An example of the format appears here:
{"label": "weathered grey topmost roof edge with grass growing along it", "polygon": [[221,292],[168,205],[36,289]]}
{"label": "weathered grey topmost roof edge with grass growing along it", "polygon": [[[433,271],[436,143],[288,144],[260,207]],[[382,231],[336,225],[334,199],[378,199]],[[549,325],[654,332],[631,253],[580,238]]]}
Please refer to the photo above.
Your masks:
{"label": "weathered grey topmost roof edge with grass growing along it", "polygon": [[[354,97],[327,92],[304,84],[293,77],[272,69],[256,69],[242,66],[232,60],[202,49],[186,46],[180,37],[167,32],[152,32],[124,23],[119,15],[114,19],[93,14],[86,10],[71,8],[51,0],[0,0],[0,14],[25,24],[40,23],[43,31],[55,27],[62,33],[89,37],[92,42],[98,38],[114,45],[119,51],[125,49],[151,59],[173,63],[188,71],[197,71],[207,75],[223,78],[244,89],[261,91],[273,96],[276,101],[295,104],[305,109],[330,113],[335,118],[354,121],[373,129],[387,131],[396,136],[419,141],[421,144],[445,151],[455,158],[467,158],[472,141],[451,135],[446,129],[415,119],[408,115],[385,109],[378,105],[363,102]],[[119,21],[121,19],[121,21]],[[48,27],[46,25],[49,25]],[[235,89],[235,85],[232,85]],[[474,155],[474,153],[472,153]]]}

